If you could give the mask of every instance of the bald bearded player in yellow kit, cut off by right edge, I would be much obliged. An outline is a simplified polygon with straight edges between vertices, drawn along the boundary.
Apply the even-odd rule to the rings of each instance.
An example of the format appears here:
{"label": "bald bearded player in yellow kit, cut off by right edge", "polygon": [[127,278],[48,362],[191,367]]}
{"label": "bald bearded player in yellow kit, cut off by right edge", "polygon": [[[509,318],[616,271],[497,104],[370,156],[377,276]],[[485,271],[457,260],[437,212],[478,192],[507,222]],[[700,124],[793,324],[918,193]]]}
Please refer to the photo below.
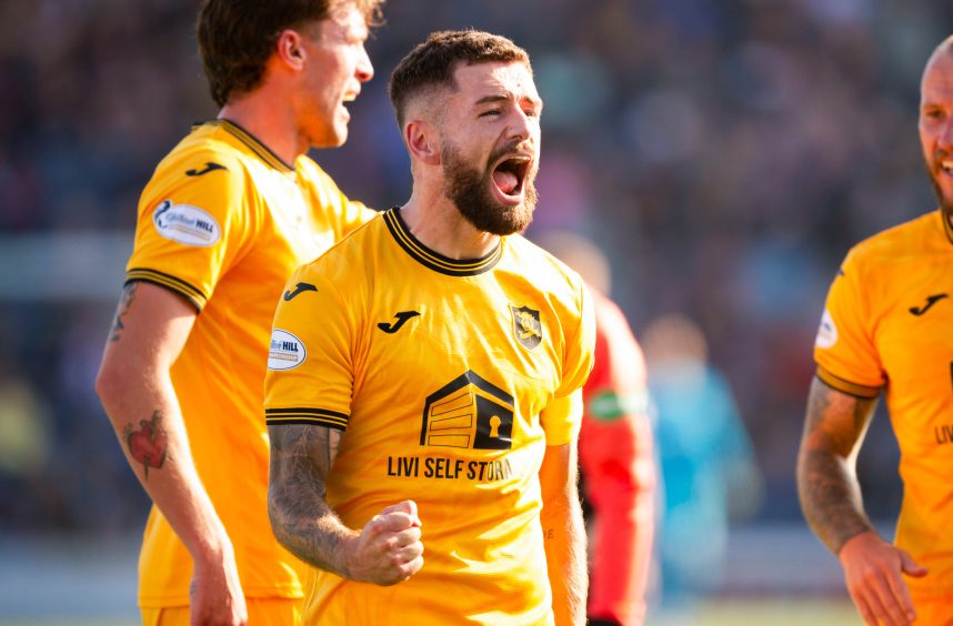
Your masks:
{"label": "bald bearded player in yellow kit, cut off by right edge", "polygon": [[[797,487],[867,624],[953,624],[953,37],[920,88],[920,143],[940,209],[855,245],[814,343]],[[893,543],[864,509],[856,458],[881,393],[900,444]]]}

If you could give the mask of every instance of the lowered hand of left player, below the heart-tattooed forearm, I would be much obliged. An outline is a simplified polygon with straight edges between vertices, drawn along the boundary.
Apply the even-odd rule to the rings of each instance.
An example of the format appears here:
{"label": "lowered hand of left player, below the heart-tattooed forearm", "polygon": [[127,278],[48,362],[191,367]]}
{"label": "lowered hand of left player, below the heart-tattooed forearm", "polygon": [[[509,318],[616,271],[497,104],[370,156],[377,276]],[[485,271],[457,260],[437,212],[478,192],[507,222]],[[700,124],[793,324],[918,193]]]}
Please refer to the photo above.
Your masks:
{"label": "lowered hand of left player, below the heart-tattooed forearm", "polygon": [[244,604],[231,545],[219,557],[194,559],[192,585],[189,587],[192,626],[245,626]]}

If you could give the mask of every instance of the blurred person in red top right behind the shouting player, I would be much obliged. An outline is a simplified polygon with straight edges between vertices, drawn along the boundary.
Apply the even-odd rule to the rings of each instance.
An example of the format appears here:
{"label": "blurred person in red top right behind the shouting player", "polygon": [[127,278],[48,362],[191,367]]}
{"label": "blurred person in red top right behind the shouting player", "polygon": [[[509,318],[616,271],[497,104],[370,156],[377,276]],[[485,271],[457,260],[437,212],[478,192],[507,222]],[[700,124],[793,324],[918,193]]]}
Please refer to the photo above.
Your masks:
{"label": "blurred person in red top right behind the shouting player", "polygon": [[568,232],[534,239],[580,273],[595,311],[595,365],[583,387],[579,435],[583,496],[591,507],[589,624],[642,624],[655,517],[645,360],[622,311],[605,295],[611,272],[602,251]]}

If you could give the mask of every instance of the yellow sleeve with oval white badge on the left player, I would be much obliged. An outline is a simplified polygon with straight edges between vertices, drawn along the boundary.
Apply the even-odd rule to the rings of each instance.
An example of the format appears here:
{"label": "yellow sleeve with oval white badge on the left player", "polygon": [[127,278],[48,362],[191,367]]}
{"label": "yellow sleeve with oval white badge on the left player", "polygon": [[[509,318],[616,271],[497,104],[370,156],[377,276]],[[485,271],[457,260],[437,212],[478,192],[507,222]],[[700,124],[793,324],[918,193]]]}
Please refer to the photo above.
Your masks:
{"label": "yellow sleeve with oval white badge on the left player", "polygon": [[241,163],[213,150],[173,153],[139,202],[128,281],[169,289],[201,311],[254,223]]}

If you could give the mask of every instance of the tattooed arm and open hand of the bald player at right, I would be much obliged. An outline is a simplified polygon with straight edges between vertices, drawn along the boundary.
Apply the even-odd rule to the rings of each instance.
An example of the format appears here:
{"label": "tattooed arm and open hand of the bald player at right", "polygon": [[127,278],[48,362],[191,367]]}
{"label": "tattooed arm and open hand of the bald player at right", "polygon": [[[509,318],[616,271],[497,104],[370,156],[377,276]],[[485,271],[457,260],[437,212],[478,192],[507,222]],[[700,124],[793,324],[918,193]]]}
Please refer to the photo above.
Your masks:
{"label": "tattooed arm and open hand of the bald player at right", "polygon": [[811,529],[841,561],[864,622],[909,624],[916,614],[901,574],[923,576],[926,571],[874,531],[856,476],[857,453],[875,406],[876,400],[814,380],[797,455],[797,493]]}

